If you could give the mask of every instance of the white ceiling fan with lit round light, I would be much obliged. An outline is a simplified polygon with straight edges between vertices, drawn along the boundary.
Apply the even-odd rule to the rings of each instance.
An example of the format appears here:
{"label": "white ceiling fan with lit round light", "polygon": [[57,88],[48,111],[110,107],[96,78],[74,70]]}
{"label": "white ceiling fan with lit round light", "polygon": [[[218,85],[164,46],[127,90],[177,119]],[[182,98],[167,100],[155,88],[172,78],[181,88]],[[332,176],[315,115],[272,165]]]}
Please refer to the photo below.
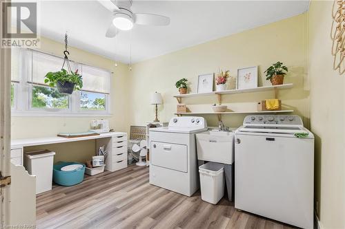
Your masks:
{"label": "white ceiling fan with lit round light", "polygon": [[99,0],[105,8],[113,12],[112,22],[106,31],[106,37],[115,37],[119,30],[132,30],[138,25],[169,25],[170,18],[157,14],[133,13],[130,9],[132,0]]}

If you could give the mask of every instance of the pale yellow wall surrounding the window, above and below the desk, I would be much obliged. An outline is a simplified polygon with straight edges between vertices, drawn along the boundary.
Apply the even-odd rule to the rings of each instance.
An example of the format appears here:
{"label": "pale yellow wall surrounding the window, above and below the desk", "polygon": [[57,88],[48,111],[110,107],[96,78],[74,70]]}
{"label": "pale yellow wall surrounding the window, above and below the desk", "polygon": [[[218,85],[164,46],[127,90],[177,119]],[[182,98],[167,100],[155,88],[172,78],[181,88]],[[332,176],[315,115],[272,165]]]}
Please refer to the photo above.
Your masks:
{"label": "pale yellow wall surrounding the window, above and below the desk", "polygon": [[[50,39],[41,37],[41,49],[61,56],[64,45]],[[103,58],[89,52],[69,47],[70,59],[87,65],[101,67],[114,72],[111,84],[111,113],[110,117],[16,117],[12,116],[11,135],[12,139],[20,138],[41,138],[55,136],[59,132],[82,132],[90,129],[90,121],[95,118],[106,118],[110,120],[110,128],[115,131],[128,131],[128,120],[125,115],[128,113],[128,89],[124,87],[128,80],[128,65]],[[61,63],[62,65],[62,63]],[[86,158],[95,153],[95,141],[72,142],[68,144],[57,144],[39,147],[30,147],[26,151],[34,149],[51,149],[57,152],[55,159],[72,160],[84,162]]]}

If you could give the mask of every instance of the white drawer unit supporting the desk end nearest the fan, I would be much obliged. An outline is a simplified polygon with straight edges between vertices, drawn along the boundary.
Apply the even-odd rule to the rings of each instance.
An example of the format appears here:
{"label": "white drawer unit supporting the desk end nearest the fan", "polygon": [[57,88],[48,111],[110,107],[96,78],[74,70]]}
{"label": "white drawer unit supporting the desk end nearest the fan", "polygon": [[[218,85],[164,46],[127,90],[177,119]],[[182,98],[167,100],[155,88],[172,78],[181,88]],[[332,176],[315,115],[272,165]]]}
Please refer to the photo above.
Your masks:
{"label": "white drawer unit supporting the desk end nearest the fan", "polygon": [[106,157],[106,170],[114,172],[122,168],[127,168],[128,166],[128,140],[127,133],[119,133],[115,136],[112,136],[108,142],[99,141],[97,147],[106,144],[106,149],[109,151],[108,156]]}

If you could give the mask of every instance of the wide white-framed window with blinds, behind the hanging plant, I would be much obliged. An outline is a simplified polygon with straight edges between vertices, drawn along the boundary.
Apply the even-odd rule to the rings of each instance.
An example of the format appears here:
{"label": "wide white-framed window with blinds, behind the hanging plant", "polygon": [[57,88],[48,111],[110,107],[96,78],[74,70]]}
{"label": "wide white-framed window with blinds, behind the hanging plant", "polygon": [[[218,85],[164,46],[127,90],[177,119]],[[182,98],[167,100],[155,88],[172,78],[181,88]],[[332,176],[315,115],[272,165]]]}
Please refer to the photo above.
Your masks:
{"label": "wide white-framed window with blinds, behind the hanging plant", "polygon": [[111,73],[70,61],[79,69],[83,91],[60,94],[56,87],[44,83],[48,72],[61,70],[63,58],[34,50],[14,50],[12,54],[12,114],[26,116],[106,116],[110,113]]}

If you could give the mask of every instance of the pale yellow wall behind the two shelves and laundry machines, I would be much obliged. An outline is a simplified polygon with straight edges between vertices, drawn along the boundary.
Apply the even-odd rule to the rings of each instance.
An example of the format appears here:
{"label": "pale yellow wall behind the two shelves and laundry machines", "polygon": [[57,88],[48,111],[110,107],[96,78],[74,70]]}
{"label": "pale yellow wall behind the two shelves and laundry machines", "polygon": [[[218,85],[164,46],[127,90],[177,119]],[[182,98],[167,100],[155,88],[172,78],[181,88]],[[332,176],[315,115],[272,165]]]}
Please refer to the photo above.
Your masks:
{"label": "pale yellow wall behind the two shelves and laundry machines", "polygon": [[[181,35],[182,36],[182,35]],[[308,124],[308,77],[306,75],[306,14],[292,17],[259,28],[247,30],[215,41],[188,47],[164,56],[132,66],[130,72],[130,124],[141,124],[154,119],[154,106],[150,105],[150,93],[159,91],[164,105],[159,106],[159,119],[168,121],[176,112],[177,94],[175,82],[188,78],[190,92],[197,91],[198,74],[217,73],[218,68],[230,69],[235,77],[241,67],[259,66],[259,85],[270,85],[264,70],[272,63],[282,61],[289,68],[286,83],[294,83],[293,89],[280,91],[285,108],[295,109]],[[235,87],[231,80],[230,87]],[[223,96],[223,102],[233,111],[255,111],[256,102],[274,98],[273,91]],[[184,99],[191,111],[212,111],[216,97]],[[208,126],[217,125],[217,117],[205,116]],[[243,115],[224,116],[230,127],[239,127]]]}

